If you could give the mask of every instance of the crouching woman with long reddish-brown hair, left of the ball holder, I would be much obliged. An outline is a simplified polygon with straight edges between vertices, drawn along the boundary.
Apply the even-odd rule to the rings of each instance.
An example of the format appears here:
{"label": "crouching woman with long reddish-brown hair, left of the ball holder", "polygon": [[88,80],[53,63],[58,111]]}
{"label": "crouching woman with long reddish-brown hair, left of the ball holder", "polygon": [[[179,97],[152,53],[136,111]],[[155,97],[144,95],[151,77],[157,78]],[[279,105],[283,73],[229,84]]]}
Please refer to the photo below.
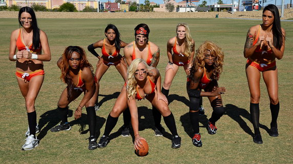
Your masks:
{"label": "crouching woman with long reddish-brown hair, left of the ball holder", "polygon": [[68,105],[81,93],[84,93],[74,112],[74,118],[81,117],[81,110],[85,106],[90,130],[88,148],[94,150],[97,148],[96,111],[94,107],[97,99],[97,82],[93,74],[93,66],[89,63],[85,50],[78,46],[67,47],[57,61],[57,66],[61,70],[60,78],[67,84],[67,87],[62,91],[57,104],[61,122],[58,126],[52,128],[51,132],[71,129],[67,119]]}

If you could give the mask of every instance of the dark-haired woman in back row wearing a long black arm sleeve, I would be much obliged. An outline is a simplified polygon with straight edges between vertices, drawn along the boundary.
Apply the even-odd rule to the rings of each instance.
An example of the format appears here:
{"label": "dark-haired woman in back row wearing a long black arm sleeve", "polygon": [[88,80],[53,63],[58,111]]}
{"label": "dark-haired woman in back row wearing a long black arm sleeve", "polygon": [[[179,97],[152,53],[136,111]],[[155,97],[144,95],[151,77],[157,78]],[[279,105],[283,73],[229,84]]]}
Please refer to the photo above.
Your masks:
{"label": "dark-haired woman in back row wearing a long black arm sleeve", "polygon": [[[125,63],[124,57],[120,55],[120,49],[124,48],[127,43],[120,40],[120,33],[115,25],[109,24],[105,30],[104,34],[106,38],[97,41],[88,46],[88,50],[95,55],[99,60],[96,66],[95,75],[97,77],[97,89],[99,94],[99,82],[104,73],[109,69],[110,66],[115,66],[118,72],[123,77],[124,81],[127,76],[127,65]],[[101,48],[102,56],[99,56],[95,51],[96,48]],[[95,109],[99,110],[98,105],[98,94],[97,101],[95,104]]]}

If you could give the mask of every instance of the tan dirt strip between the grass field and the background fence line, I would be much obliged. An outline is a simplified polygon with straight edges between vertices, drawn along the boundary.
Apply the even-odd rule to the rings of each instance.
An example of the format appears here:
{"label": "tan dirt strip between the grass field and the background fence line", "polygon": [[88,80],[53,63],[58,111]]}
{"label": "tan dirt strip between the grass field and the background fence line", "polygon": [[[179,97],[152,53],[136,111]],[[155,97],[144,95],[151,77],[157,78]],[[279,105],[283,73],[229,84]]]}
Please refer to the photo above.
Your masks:
{"label": "tan dirt strip between the grass field and the background fence line", "polygon": [[[0,11],[0,18],[16,18],[17,11]],[[228,12],[36,12],[37,18],[214,18],[219,14],[219,18],[253,18],[260,19],[262,11],[239,11],[234,14]],[[284,17],[281,19],[293,18],[293,9],[285,9]]]}

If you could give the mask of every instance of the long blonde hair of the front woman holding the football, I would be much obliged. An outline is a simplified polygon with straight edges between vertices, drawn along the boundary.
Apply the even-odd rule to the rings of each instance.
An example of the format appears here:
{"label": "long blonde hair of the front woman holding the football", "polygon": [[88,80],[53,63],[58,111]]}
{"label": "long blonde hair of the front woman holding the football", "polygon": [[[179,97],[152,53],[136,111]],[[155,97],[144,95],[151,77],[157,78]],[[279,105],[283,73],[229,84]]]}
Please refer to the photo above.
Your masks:
{"label": "long blonde hair of the front woman holding the football", "polygon": [[137,81],[135,79],[135,71],[137,70],[137,67],[140,63],[143,63],[145,68],[148,70],[148,75],[152,75],[151,70],[154,69],[153,67],[150,67],[143,59],[141,58],[136,58],[132,61],[131,65],[128,67],[127,70],[127,85],[126,89],[128,91],[128,98],[133,97],[135,98],[135,95],[137,94],[136,92],[136,86],[137,86]]}

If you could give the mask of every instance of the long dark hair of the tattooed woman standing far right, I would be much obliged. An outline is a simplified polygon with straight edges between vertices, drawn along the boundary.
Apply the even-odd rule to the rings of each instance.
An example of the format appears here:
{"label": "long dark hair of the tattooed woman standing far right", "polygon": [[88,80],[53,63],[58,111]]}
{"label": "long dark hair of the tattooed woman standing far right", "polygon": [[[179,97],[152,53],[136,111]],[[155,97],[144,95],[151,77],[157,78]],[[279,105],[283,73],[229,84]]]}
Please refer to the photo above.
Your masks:
{"label": "long dark hair of the tattooed woman standing far right", "polygon": [[282,45],[283,45],[283,37],[284,34],[282,33],[282,29],[281,29],[281,21],[280,21],[280,15],[279,15],[279,10],[277,8],[277,6],[270,4],[267,5],[262,13],[264,13],[266,10],[270,11],[271,13],[273,13],[274,15],[274,23],[273,23],[273,44],[277,49],[281,49]]}

